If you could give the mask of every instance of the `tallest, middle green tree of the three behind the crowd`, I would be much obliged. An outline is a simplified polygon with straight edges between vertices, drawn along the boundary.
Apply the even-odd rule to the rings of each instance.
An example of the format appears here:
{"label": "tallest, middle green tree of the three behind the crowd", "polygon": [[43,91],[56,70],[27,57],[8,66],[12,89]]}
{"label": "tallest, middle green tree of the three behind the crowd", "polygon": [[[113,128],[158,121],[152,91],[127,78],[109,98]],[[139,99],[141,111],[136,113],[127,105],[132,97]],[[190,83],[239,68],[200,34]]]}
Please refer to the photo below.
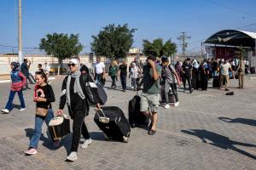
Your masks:
{"label": "tallest, middle green tree of the three behind the crowd", "polygon": [[97,36],[92,36],[90,43],[91,51],[96,56],[106,56],[108,58],[124,58],[129,52],[133,42],[133,33],[137,29],[129,29],[128,25],[103,27]]}

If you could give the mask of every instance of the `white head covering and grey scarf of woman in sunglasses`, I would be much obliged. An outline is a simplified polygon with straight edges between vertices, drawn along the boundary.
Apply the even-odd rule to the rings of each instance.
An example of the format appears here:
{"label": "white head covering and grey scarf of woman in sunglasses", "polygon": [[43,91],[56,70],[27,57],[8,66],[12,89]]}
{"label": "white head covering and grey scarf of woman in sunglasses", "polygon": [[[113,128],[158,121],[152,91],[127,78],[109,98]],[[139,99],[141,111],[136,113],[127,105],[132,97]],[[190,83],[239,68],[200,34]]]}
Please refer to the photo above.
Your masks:
{"label": "white head covering and grey scarf of woman in sunglasses", "polygon": [[80,75],[81,75],[81,72],[80,72],[80,62],[79,62],[79,59],[71,59],[69,61],[69,63],[73,63],[75,65],[78,66],[78,70],[75,71],[75,72],[71,72],[70,75],[68,75],[67,77],[67,94],[66,94],[66,97],[67,97],[67,105],[70,105],[71,102],[70,102],[70,81],[71,81],[71,77],[75,78],[75,82],[74,82],[74,87],[73,87],[73,93],[74,94],[79,94],[79,97],[81,99],[85,99],[85,96],[84,96],[84,92],[81,88],[81,85],[80,85]]}

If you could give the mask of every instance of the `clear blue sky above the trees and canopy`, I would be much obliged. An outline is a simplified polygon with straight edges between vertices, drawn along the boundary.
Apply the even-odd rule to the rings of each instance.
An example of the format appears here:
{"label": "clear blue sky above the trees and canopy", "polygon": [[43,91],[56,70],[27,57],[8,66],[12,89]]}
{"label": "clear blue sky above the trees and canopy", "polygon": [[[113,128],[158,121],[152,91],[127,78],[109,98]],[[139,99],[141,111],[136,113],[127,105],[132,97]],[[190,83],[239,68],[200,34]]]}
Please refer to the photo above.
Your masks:
{"label": "clear blue sky above the trees and canopy", "polygon": [[[256,32],[256,0],[22,0],[23,54],[37,54],[40,39],[48,33],[79,34],[83,53],[90,52],[92,35],[109,24],[137,28],[133,47],[143,39],[190,37],[187,51],[201,50],[201,42],[217,31]],[[17,53],[18,0],[0,1],[0,54]],[[12,46],[14,48],[4,47]]]}

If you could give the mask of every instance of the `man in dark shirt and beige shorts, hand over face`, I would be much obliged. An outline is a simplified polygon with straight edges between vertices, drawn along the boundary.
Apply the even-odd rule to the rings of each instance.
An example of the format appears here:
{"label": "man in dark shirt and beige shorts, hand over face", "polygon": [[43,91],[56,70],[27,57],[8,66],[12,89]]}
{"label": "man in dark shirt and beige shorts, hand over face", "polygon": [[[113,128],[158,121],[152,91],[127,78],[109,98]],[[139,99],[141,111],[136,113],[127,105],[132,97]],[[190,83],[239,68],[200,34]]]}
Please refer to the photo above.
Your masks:
{"label": "man in dark shirt and beige shorts, hand over face", "polygon": [[[154,135],[157,127],[157,112],[159,111],[160,100],[160,75],[161,68],[155,63],[156,57],[149,55],[147,65],[143,66],[143,80],[137,89],[143,85],[140,111],[151,120],[148,134]],[[150,111],[150,112],[149,112]]]}

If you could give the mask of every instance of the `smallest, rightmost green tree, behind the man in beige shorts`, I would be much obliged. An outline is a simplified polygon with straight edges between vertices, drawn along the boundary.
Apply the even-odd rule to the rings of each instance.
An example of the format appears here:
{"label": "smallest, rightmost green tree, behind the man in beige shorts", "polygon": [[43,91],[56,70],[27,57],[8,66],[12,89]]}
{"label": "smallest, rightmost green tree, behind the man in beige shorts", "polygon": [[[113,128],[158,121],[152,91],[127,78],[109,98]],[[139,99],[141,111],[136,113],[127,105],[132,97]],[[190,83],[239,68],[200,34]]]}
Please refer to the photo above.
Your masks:
{"label": "smallest, rightmost green tree, behind the man in beige shorts", "polygon": [[155,39],[153,42],[143,40],[143,53],[145,55],[154,54],[157,57],[162,55],[171,56],[177,53],[177,45],[171,39],[166,41],[165,44],[161,38]]}

